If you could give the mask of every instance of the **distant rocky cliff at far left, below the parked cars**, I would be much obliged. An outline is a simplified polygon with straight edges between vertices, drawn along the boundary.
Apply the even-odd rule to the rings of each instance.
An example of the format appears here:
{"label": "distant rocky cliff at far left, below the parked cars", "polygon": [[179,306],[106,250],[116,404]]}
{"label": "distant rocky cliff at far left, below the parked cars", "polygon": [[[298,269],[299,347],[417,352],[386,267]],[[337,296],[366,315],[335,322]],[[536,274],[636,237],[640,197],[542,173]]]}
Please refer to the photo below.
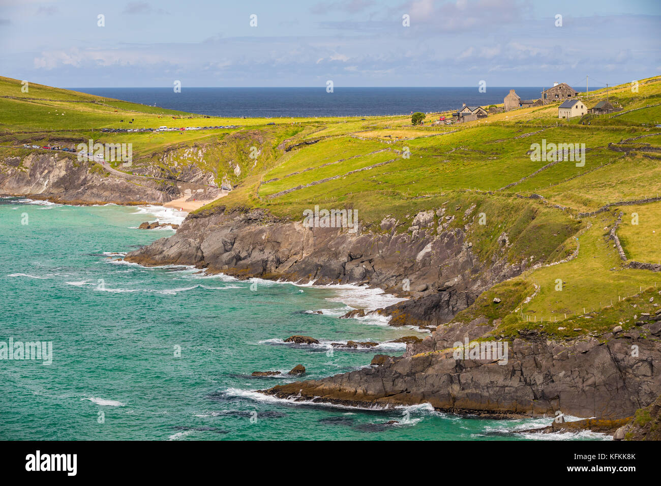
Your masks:
{"label": "distant rocky cliff at far left, below the parked cars", "polygon": [[110,176],[94,163],[57,153],[0,160],[0,194],[69,204],[163,204],[172,200],[154,181]]}

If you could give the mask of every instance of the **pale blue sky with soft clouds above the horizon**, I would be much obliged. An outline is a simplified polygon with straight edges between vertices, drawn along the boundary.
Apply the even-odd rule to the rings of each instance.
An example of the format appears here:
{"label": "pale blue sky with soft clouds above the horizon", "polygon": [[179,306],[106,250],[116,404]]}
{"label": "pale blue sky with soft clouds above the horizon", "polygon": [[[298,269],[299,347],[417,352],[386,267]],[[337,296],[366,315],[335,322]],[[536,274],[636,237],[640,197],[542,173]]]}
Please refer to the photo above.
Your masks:
{"label": "pale blue sky with soft clouds above the horizon", "polygon": [[0,75],[57,87],[602,87],[660,41],[661,0],[0,0]]}

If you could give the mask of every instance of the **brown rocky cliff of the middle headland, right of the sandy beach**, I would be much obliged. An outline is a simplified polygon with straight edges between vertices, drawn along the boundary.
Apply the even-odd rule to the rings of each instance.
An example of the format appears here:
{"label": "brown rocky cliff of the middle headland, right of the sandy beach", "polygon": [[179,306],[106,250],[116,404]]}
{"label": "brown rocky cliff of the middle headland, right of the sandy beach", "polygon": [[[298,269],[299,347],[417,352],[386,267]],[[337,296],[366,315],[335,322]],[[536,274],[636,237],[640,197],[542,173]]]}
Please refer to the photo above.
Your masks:
{"label": "brown rocky cliff of the middle headland, right of the sandy beach", "polygon": [[219,210],[189,216],[176,235],[129,253],[126,260],[148,266],[188,264],[239,278],[368,284],[414,298],[397,309],[406,309],[410,323],[436,325],[465,309],[488,286],[521,271],[520,265],[504,261],[483,266],[465,239],[461,229],[349,233],[278,221],[260,211]]}

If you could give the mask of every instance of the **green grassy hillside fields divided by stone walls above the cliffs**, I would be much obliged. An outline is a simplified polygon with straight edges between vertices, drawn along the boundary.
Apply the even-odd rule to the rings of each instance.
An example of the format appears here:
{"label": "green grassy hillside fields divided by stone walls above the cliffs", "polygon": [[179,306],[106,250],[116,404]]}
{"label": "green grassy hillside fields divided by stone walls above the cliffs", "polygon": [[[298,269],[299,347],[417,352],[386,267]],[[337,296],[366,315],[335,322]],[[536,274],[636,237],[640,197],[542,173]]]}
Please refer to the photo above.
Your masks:
{"label": "green grassy hillside fields divided by stone walls above the cliffs", "polygon": [[[402,116],[205,118],[32,83],[28,93],[20,88],[19,80],[0,77],[0,161],[29,153],[15,148],[23,143],[132,143],[135,170],[156,167],[176,177],[193,165],[215,173],[218,183],[233,184],[228,196],[202,210],[264,208],[301,220],[303,210],[316,204],[353,208],[362,225],[375,232],[391,216],[404,222],[398,231],[407,231],[407,223],[423,210],[443,208],[443,218],[454,217],[450,226],[461,228],[484,214],[486,224],[468,230],[481,261],[496,254],[538,267],[494,286],[457,315],[500,319],[504,335],[542,326],[572,337],[613,319],[627,322],[629,307],[622,299],[661,285],[658,272],[625,268],[607,238],[621,210],[618,235],[627,257],[657,263],[661,203],[578,217],[605,204],[661,195],[661,128],[655,126],[661,122],[661,77],[640,80],[637,92],[621,85],[580,93],[588,108],[608,97],[621,108],[613,114],[559,120],[557,104],[550,104],[449,126],[412,126]],[[434,119],[437,114],[426,120]],[[161,125],[237,128],[100,131]],[[584,144],[584,163],[533,159],[535,143]],[[543,199],[529,198],[532,194]],[[632,213],[638,214],[637,225]],[[435,217],[437,224],[440,219]],[[500,248],[502,233],[509,240],[505,248]],[[575,259],[547,266],[577,248]],[[494,296],[503,303],[497,309],[491,305]]]}

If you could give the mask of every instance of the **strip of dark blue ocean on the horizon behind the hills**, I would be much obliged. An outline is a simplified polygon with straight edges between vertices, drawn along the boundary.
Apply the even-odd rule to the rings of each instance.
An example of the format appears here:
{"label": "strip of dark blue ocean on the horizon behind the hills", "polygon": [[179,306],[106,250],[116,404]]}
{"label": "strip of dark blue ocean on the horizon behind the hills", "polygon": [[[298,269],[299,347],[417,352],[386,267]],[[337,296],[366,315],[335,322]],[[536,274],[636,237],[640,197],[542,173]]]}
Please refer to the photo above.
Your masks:
{"label": "strip of dark blue ocean on the horizon behind the hills", "polygon": [[[547,87],[548,88],[548,87]],[[541,87],[69,88],[91,95],[211,116],[366,116],[438,112],[502,103],[510,89],[537,99]]]}

